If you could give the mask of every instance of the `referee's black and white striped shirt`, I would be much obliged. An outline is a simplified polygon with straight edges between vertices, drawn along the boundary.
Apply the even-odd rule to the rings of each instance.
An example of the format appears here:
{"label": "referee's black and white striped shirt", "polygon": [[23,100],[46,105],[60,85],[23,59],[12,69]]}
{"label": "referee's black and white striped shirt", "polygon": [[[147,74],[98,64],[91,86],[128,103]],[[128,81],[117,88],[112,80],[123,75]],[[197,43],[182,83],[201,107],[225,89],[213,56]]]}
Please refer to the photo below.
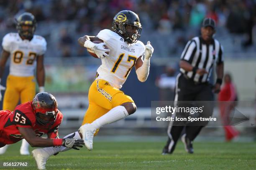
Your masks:
{"label": "referee's black and white striped shirt", "polygon": [[223,47],[216,39],[212,39],[210,44],[206,44],[202,37],[194,37],[187,42],[186,47],[181,55],[181,60],[189,62],[193,67],[204,68],[208,73],[200,76],[193,71],[185,71],[180,68],[180,71],[195,82],[208,82],[212,73],[214,63],[223,63]]}

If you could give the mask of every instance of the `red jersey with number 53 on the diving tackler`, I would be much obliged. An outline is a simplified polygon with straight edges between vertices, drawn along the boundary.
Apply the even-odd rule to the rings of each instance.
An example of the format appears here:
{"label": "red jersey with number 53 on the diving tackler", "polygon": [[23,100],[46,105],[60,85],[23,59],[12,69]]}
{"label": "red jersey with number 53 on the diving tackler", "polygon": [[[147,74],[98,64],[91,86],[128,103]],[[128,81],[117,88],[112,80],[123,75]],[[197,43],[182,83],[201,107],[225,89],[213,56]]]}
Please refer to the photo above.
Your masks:
{"label": "red jersey with number 53 on the diving tackler", "polygon": [[56,121],[49,127],[36,123],[36,115],[33,111],[32,102],[26,102],[15,107],[15,110],[0,111],[0,143],[12,144],[23,139],[18,127],[32,128],[38,137],[51,133],[51,138],[56,138],[63,115],[58,110]]}

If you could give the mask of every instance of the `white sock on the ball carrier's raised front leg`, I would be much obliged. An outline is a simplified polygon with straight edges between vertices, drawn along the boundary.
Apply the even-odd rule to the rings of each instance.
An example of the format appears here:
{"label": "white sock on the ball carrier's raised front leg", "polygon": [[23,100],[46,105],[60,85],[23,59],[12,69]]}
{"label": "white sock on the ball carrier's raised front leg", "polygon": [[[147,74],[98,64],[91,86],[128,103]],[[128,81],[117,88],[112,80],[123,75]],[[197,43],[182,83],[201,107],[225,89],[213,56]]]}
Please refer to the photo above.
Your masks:
{"label": "white sock on the ball carrier's raised front leg", "polygon": [[103,125],[113,123],[115,121],[118,121],[120,119],[123,119],[124,117],[128,116],[128,112],[123,106],[117,106],[111,109],[109,112],[107,112],[105,115],[97,118],[94,120],[91,125],[98,129]]}

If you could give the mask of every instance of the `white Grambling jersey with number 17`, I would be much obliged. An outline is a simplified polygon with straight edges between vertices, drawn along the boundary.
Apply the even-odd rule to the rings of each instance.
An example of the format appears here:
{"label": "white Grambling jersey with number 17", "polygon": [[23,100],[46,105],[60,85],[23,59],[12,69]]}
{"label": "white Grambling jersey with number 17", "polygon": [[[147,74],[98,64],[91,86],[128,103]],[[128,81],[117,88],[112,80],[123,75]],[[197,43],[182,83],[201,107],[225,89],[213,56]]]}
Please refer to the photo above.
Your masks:
{"label": "white Grambling jersey with number 17", "polygon": [[101,59],[102,64],[97,69],[99,74],[97,79],[106,80],[113,87],[120,89],[136,60],[144,55],[145,46],[141,41],[128,44],[123,37],[107,29],[101,30],[97,37],[110,49],[109,56]]}

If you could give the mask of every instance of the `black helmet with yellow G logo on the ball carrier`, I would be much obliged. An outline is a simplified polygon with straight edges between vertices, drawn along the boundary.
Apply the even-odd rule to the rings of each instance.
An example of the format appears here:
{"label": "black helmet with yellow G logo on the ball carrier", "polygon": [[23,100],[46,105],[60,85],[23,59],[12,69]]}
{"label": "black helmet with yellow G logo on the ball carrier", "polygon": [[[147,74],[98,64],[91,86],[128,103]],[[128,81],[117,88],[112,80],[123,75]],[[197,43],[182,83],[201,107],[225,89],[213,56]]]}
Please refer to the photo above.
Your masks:
{"label": "black helmet with yellow G logo on the ball carrier", "polygon": [[129,44],[137,42],[141,37],[140,19],[130,10],[123,10],[115,15],[112,29]]}

